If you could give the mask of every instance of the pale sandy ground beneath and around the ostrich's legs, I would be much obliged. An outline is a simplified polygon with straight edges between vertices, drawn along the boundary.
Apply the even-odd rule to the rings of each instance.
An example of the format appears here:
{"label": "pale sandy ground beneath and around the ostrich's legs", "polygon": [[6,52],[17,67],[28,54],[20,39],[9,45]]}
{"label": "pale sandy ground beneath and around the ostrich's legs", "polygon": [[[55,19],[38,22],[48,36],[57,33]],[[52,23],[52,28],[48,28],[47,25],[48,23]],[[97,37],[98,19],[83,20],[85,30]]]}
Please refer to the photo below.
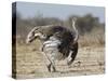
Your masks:
{"label": "pale sandy ground beneath and around the ostrich's legs", "polygon": [[38,48],[16,48],[17,79],[102,75],[105,72],[105,48],[80,48],[71,67],[68,67],[65,60],[56,62],[57,72],[49,72],[46,64],[46,58]]}

